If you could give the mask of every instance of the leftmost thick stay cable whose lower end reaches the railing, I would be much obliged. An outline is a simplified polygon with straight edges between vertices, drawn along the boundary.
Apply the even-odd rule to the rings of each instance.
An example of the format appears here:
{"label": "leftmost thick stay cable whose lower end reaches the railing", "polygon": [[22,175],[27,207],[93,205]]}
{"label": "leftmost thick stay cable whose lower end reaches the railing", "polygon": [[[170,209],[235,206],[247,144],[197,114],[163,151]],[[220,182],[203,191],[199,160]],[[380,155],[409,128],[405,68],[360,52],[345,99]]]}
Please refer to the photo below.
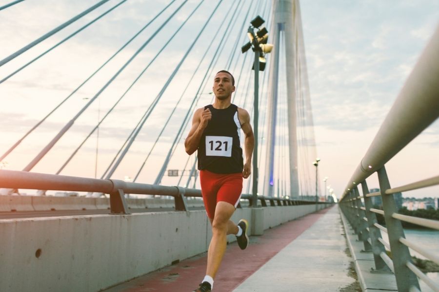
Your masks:
{"label": "leftmost thick stay cable whose lower end reaches the railing", "polygon": [[183,3],[177,8],[177,10],[174,11],[172,15],[165,20],[165,22],[152,34],[152,36],[145,41],[145,43],[143,43],[143,45],[136,51],[136,53],[134,53],[134,55],[130,57],[128,61],[125,62],[125,64],[119,69],[119,71],[114,74],[113,77],[110,78],[110,80],[107,81],[107,83],[100,89],[100,91],[98,91],[98,93],[96,93],[95,96],[93,96],[90,101],[60,130],[55,138],[53,138],[52,141],[50,141],[49,144],[47,144],[47,146],[45,146],[40,151],[40,153],[26,167],[24,167],[23,171],[30,171],[41,160],[41,158],[44,157],[44,155],[60,140],[62,135],[64,135],[65,132],[67,132],[67,130],[73,126],[75,120],[77,120],[80,115],[96,100],[96,98],[98,98],[100,93],[102,93],[116,79],[117,76],[119,76],[119,74],[133,61],[133,59],[137,55],[139,55],[139,53],[160,32],[160,30],[169,22],[169,20],[171,20],[171,18],[173,18],[175,14],[177,14],[177,12],[186,2],[187,0],[183,1]]}

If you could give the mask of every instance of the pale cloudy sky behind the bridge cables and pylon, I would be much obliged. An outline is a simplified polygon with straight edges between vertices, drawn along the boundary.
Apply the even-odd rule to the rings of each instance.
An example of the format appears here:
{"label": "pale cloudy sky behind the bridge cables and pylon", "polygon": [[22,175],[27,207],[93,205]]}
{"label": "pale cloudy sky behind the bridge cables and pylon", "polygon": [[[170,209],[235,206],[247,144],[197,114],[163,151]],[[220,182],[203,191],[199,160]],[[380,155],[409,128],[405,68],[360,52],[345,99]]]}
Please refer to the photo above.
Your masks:
{"label": "pale cloudy sky behind the bridge cables and pylon", "polygon": [[[0,0],[0,6],[9,2],[10,0]],[[1,10],[0,59],[14,53],[97,2],[97,0],[26,0]],[[90,15],[0,67],[0,79],[119,2],[110,0]],[[160,92],[162,85],[205,23],[207,16],[212,13],[214,3],[216,5],[217,1],[208,2],[198,8],[197,13],[190,18],[173,42],[151,65],[141,81],[129,91],[127,98],[118,107],[118,118],[109,119],[102,126],[98,177],[112,159],[114,151],[119,149],[119,144],[126,139],[127,132],[131,131],[139,121],[145,107]],[[69,95],[143,25],[157,15],[167,3],[169,1],[128,0],[108,16],[0,84],[0,101],[3,105],[0,108],[2,116],[0,154]],[[95,76],[90,84],[85,85],[60,110],[55,112],[40,130],[30,135],[26,143],[23,142],[23,145],[8,156],[5,159],[8,162],[7,169],[22,169],[73,117],[74,113],[96,94],[108,78],[136,52],[147,37],[159,28],[160,23],[180,3],[181,0],[177,0],[172,9],[166,11],[162,18],[158,19],[160,21],[153,22],[141,35],[142,37],[134,40],[117,56],[108,65],[107,70]],[[78,146],[84,135],[93,128],[98,116],[102,117],[103,112],[116,102],[132,82],[133,77],[143,70],[158,48],[174,33],[198,3],[199,1],[190,0],[181,8],[169,25],[164,27],[160,34],[151,41],[147,50],[142,51],[136,61],[130,64],[127,70],[122,72],[104,91],[100,100],[84,112],[75,126],[33,171],[54,173],[58,170],[60,161],[64,161]],[[214,50],[219,46],[216,42],[220,41],[224,32],[221,31],[215,39],[212,39],[212,36],[220,28],[222,20],[230,17],[239,7],[242,7],[242,10],[239,10],[242,19],[249,10],[249,14],[255,13],[254,9],[268,18],[268,11],[264,10],[265,1],[260,3],[254,1],[254,5],[250,5],[251,1],[242,1],[242,6],[237,3],[238,8],[234,6],[234,3],[237,2],[224,0],[219,6],[219,12],[200,36],[200,45],[194,47],[192,54],[188,55],[185,65],[181,67],[163,96],[163,103],[148,119],[148,130],[140,133],[140,141],[130,149],[132,155],[126,158],[124,165],[121,165],[122,170],[119,176],[126,173],[134,177],[136,174],[142,160],[139,159],[140,156],[136,156],[136,153],[143,157],[144,149],[152,146],[155,136],[164,123],[164,117],[167,118],[169,115],[173,104],[180,97],[190,75],[196,68],[199,62],[198,56],[204,54],[210,43],[213,46],[208,55],[214,54]],[[371,144],[429,37],[437,28],[439,2],[437,0],[312,0],[301,1],[300,6],[317,153],[321,159],[319,173],[321,178],[329,177],[328,184],[339,196]],[[241,26],[242,19],[239,18],[234,24],[235,28]],[[245,38],[245,36],[242,37]],[[237,38],[239,46],[244,38]],[[233,45],[235,45],[235,39],[226,44],[230,50]],[[229,56],[230,54],[220,56],[219,64],[221,62],[226,64]],[[236,60],[236,65],[232,65],[231,69],[235,69],[235,75],[240,72],[239,62],[243,58],[244,55],[239,52],[239,55],[233,59],[232,64],[235,64]],[[210,58],[206,58],[202,66],[207,66],[209,60]],[[243,82],[250,80],[250,74],[248,70],[243,72],[240,84],[246,84]],[[202,74],[197,73],[195,79],[201,80]],[[182,110],[178,111],[171,120],[171,125],[166,129],[168,135],[165,132],[163,139],[160,140],[162,146],[153,153],[149,168],[152,168],[155,162],[160,161],[160,157],[167,154],[167,149],[173,140],[171,133],[178,131],[193,95],[198,90],[198,85],[195,81],[192,82],[183,96],[180,106]],[[211,95],[207,94],[210,86],[209,83],[206,88],[201,89],[202,102],[208,103],[211,99]],[[242,92],[242,87],[239,90]],[[235,98],[244,99],[238,93]],[[115,143],[116,138],[119,138],[117,140],[119,144]],[[62,174],[94,177],[96,138],[87,142],[83,149],[80,154],[81,158],[75,158],[76,160],[74,159]],[[436,122],[389,162],[387,171],[391,185],[398,186],[438,175],[438,150],[439,124]],[[193,158],[191,159],[193,162]],[[180,164],[175,165],[176,168],[181,168]],[[135,168],[136,171],[131,168]],[[377,180],[372,178],[369,187],[377,186]],[[439,196],[439,190],[438,187],[431,187],[404,195],[435,197]]]}

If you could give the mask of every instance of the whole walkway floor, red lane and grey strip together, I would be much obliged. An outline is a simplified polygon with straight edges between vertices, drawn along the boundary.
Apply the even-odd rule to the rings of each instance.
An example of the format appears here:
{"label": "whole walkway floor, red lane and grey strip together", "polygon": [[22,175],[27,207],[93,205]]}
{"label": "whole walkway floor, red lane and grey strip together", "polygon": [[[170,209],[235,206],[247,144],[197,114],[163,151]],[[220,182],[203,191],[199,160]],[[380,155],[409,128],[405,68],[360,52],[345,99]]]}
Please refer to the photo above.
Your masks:
{"label": "whole walkway floor, red lane and grey strip together", "polygon": [[[345,254],[343,233],[335,206],[251,237],[245,251],[232,243],[214,291],[339,291],[354,282],[347,275],[351,258]],[[204,276],[205,265],[202,254],[105,292],[189,292]]]}

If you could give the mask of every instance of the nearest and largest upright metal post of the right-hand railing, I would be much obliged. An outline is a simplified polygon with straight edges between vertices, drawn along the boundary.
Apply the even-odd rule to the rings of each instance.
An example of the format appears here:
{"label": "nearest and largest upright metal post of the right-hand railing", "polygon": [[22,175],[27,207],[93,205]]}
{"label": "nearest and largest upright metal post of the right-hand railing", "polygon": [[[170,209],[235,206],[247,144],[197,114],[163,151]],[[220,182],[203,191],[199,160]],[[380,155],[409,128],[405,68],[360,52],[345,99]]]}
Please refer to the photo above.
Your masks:
{"label": "nearest and largest upright metal post of the right-hand railing", "polygon": [[413,286],[420,290],[417,276],[406,266],[407,262],[412,262],[409,249],[399,242],[399,238],[405,238],[401,221],[392,217],[398,211],[395,199],[393,195],[385,194],[390,183],[384,166],[378,170],[378,180],[398,291],[409,292]]}

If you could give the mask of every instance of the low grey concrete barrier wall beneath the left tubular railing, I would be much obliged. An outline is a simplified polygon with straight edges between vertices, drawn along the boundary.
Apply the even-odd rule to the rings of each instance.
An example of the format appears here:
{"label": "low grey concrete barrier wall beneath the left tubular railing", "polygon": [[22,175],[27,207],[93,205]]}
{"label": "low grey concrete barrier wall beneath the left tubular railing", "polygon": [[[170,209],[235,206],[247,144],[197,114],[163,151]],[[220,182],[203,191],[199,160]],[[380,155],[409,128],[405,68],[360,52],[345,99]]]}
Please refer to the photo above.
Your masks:
{"label": "low grey concrete barrier wall beneath the left tubular railing", "polygon": [[[314,211],[243,208],[232,219],[262,229]],[[211,235],[204,210],[0,220],[0,291],[100,291],[205,252]]]}

